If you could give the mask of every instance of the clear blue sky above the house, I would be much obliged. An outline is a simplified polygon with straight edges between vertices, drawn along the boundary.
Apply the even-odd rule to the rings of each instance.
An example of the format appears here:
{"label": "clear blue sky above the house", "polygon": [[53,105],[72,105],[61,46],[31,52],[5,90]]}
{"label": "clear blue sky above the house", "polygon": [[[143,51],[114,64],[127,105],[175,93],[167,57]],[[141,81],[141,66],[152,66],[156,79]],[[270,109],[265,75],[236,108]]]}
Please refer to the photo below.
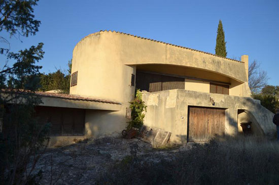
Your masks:
{"label": "clear blue sky above the house", "polygon": [[[41,0],[35,36],[12,38],[16,52],[44,42],[42,72],[67,68],[75,45],[99,30],[115,30],[215,54],[219,19],[227,57],[249,55],[279,85],[279,1],[70,1]],[[3,33],[2,33],[3,35]],[[5,34],[4,34],[5,36]],[[7,36],[7,35],[6,35]]]}

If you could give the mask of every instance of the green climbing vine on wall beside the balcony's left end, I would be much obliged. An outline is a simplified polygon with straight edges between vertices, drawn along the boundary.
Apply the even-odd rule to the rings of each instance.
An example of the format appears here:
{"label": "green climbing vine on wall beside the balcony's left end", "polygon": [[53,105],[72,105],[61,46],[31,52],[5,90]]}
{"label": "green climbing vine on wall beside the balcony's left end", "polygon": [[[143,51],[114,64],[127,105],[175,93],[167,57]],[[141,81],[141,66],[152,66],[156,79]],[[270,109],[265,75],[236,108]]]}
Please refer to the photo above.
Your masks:
{"label": "green climbing vine on wall beside the balcony's left end", "polygon": [[132,121],[128,122],[127,129],[131,129],[132,127],[141,128],[144,124],[144,118],[147,106],[142,99],[142,93],[140,89],[136,90],[135,98],[130,102],[131,108],[131,118]]}

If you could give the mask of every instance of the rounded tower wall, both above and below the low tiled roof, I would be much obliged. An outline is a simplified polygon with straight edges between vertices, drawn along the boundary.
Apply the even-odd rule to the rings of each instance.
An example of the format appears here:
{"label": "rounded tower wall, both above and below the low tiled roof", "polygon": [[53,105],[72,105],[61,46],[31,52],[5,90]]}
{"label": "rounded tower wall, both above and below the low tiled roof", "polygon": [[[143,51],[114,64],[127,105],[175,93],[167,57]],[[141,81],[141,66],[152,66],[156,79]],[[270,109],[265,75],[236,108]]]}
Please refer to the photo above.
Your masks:
{"label": "rounded tower wall, both above and below the low tiled roof", "polygon": [[78,71],[78,83],[70,94],[120,102],[119,111],[87,110],[85,129],[88,136],[123,130],[127,125],[126,107],[134,98],[131,74],[135,66],[123,65],[119,38],[96,33],[82,39],[73,51],[72,73]]}

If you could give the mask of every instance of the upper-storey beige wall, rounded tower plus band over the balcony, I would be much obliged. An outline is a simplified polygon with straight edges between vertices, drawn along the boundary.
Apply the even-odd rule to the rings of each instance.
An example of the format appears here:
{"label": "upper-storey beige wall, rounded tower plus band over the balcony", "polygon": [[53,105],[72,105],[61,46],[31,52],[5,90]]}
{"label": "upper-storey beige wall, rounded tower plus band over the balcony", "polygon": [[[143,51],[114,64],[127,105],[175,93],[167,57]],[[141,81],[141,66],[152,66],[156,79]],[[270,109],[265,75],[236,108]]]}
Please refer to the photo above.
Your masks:
{"label": "upper-storey beige wall, rounded tower plus band over the balcony", "polygon": [[[226,82],[247,81],[243,62],[111,31],[83,38],[73,51],[72,62],[72,73],[78,71],[78,83],[70,88],[70,94],[121,103],[133,99],[131,74],[135,74],[138,65],[184,67],[183,75]],[[163,69],[171,73],[172,68],[165,66]]]}

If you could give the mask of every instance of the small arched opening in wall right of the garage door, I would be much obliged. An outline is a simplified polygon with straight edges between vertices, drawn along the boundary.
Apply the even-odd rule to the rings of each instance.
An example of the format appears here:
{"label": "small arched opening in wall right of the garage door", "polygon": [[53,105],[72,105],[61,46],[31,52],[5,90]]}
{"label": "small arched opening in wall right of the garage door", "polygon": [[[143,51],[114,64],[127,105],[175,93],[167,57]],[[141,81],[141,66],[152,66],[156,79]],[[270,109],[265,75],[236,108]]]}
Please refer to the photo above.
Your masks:
{"label": "small arched opening in wall right of the garage door", "polygon": [[264,135],[256,118],[245,109],[237,110],[237,128],[240,135]]}

